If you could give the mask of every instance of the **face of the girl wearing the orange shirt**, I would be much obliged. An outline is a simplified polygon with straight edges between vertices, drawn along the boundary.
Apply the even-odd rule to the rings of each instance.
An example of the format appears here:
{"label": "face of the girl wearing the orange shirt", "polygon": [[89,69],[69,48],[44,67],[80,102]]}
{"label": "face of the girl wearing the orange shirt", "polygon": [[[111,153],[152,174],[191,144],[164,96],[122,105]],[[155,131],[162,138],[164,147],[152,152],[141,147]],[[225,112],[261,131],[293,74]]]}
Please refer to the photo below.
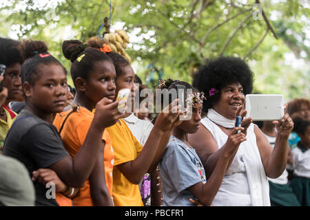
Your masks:
{"label": "face of the girl wearing the orange shirt", "polygon": [[116,72],[112,62],[96,62],[86,82],[85,96],[92,100],[94,104],[105,97],[114,100],[116,89],[115,77]]}

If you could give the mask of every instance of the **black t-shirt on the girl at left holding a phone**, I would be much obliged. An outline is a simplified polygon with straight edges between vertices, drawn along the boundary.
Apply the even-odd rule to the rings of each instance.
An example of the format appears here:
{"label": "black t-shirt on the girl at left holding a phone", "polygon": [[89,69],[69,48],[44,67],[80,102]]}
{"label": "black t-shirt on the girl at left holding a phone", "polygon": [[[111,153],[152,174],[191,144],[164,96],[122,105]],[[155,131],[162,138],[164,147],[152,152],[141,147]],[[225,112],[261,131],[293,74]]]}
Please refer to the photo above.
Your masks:
{"label": "black t-shirt on the girl at left holding a phone", "polygon": [[[22,162],[30,177],[34,170],[48,168],[69,155],[57,129],[27,110],[19,113],[8,131],[3,154]],[[50,186],[45,188],[43,184],[34,181],[34,188],[36,206],[58,206],[56,199],[50,197]]]}

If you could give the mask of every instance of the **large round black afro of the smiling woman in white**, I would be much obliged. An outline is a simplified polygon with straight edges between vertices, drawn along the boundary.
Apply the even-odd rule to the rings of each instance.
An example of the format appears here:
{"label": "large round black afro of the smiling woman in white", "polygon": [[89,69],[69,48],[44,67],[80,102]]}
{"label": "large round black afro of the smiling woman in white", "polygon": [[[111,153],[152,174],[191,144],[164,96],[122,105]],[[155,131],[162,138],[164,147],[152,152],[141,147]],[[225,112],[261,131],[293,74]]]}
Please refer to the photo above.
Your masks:
{"label": "large round black afro of the smiling woman in white", "polygon": [[220,91],[231,83],[240,83],[244,94],[251,94],[253,78],[254,74],[245,61],[237,57],[221,56],[201,66],[194,74],[192,84],[205,93],[207,100],[203,102],[203,111],[207,112],[220,99],[220,92],[209,96],[210,89]]}

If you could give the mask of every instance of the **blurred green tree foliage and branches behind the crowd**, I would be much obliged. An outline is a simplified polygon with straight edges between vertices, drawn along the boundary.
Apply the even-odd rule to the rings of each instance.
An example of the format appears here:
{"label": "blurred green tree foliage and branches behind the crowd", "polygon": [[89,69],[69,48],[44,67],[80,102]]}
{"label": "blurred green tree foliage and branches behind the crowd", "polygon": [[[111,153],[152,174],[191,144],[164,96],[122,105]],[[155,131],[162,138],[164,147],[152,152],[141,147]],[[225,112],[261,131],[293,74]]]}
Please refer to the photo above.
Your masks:
{"label": "blurred green tree foliage and branches behind the crowd", "polygon": [[166,77],[192,83],[206,59],[239,56],[255,74],[254,93],[310,97],[307,0],[9,0],[0,14],[1,36],[45,41],[68,71],[62,41],[101,35],[108,17],[111,32],[130,35],[126,52],[149,87]]}

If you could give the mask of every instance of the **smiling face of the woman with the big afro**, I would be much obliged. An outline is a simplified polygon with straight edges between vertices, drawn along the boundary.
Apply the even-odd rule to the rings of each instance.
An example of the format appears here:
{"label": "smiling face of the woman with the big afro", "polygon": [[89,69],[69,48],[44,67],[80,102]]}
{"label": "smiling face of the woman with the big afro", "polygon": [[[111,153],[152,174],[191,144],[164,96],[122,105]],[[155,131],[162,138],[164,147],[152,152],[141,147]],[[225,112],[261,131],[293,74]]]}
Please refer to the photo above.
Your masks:
{"label": "smiling face of the woman with the big afro", "polygon": [[220,100],[214,103],[216,112],[229,120],[234,120],[238,107],[245,105],[245,94],[240,83],[231,83],[220,89]]}

